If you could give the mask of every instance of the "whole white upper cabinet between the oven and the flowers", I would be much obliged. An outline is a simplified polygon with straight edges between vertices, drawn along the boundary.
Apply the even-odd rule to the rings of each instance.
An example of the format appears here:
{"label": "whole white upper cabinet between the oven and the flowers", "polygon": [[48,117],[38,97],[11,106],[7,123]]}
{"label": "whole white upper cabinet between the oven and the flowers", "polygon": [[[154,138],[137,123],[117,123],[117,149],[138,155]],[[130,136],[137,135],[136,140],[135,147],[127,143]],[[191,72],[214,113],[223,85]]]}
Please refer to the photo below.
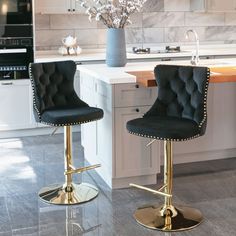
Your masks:
{"label": "whole white upper cabinet between the oven and the flowers", "polygon": [[35,0],[35,12],[42,14],[66,14],[84,12],[77,0]]}

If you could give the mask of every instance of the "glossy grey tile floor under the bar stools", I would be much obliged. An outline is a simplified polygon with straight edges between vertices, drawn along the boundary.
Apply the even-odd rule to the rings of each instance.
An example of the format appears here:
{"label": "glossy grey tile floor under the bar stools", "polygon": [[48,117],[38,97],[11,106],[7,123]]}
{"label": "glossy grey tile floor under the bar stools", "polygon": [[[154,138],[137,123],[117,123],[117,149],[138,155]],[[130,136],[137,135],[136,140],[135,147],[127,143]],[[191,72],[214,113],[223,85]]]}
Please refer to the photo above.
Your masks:
{"label": "glossy grey tile floor under the bar stools", "polygon": [[[83,165],[80,133],[74,159]],[[38,190],[63,182],[63,135],[0,140],[0,236],[235,236],[236,158],[175,166],[174,201],[197,207],[205,221],[191,231],[163,233],[146,229],[132,217],[156,197],[137,189],[110,189],[94,171],[75,177],[100,188],[99,196],[73,207],[48,205]],[[77,178],[77,180],[76,180]]]}

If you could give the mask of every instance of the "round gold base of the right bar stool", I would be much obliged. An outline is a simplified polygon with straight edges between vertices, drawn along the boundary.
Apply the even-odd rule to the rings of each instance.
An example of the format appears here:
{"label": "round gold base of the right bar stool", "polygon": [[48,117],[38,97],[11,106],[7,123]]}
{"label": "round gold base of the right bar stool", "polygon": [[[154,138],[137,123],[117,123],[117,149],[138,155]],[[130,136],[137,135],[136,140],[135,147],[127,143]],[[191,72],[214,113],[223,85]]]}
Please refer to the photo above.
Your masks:
{"label": "round gold base of the right bar stool", "polygon": [[175,207],[176,216],[161,215],[162,207],[144,206],[134,213],[136,221],[150,229],[161,231],[183,231],[196,227],[202,220],[202,214],[199,210],[190,207]]}

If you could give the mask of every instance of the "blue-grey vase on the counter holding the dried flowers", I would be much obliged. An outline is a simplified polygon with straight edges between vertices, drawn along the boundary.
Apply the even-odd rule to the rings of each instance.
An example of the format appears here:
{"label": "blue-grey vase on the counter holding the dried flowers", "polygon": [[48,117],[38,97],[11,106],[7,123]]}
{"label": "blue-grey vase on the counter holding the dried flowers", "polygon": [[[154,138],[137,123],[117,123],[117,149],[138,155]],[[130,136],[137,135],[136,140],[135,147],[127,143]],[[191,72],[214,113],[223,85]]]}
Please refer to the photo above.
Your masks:
{"label": "blue-grey vase on the counter holding the dried flowers", "polygon": [[123,67],[127,63],[125,30],[107,29],[106,64],[110,67]]}

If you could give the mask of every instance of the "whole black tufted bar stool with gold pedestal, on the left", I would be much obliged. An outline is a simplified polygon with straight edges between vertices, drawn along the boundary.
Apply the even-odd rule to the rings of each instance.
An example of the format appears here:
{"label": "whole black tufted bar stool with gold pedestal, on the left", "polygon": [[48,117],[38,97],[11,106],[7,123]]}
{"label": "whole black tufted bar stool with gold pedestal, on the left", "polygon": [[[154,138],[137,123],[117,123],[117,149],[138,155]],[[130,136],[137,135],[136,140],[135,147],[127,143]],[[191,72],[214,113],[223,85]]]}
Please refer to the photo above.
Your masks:
{"label": "whole black tufted bar stool with gold pedestal, on the left", "polygon": [[76,64],[73,61],[31,63],[29,66],[36,121],[51,126],[64,126],[65,183],[45,187],[39,192],[42,200],[54,204],[83,203],[98,194],[97,188],[90,184],[72,182],[72,174],[99,165],[78,169],[73,167],[71,126],[103,117],[102,109],[90,107],[77,96],[74,90],[75,71]]}

